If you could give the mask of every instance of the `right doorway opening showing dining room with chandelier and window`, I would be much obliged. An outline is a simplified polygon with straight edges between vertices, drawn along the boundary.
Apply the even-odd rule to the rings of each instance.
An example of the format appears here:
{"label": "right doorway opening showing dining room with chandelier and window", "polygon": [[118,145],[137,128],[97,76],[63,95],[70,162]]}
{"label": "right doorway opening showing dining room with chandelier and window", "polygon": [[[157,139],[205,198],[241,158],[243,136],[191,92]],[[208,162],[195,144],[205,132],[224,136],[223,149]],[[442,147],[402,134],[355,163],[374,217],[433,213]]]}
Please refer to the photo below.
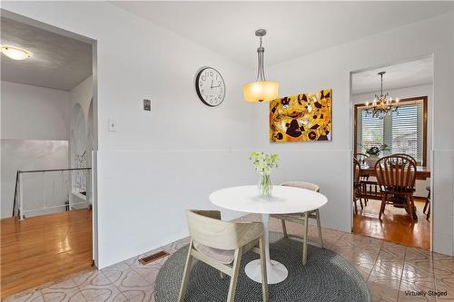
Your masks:
{"label": "right doorway opening showing dining room with chandelier and window", "polygon": [[432,56],[351,73],[353,233],[431,249],[432,92]]}

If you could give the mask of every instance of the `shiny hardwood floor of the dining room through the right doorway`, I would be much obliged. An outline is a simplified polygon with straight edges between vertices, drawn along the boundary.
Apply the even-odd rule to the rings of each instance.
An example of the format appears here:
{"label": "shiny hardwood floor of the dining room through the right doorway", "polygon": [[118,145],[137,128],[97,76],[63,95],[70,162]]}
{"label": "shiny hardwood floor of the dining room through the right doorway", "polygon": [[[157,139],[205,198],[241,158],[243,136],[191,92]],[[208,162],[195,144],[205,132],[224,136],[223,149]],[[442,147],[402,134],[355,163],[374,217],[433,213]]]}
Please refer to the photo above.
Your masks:
{"label": "shiny hardwood floor of the dining room through the right doorway", "polygon": [[353,233],[384,239],[401,245],[415,248],[430,248],[430,222],[422,213],[425,200],[415,200],[418,222],[411,224],[405,209],[387,205],[384,214],[379,219],[380,200],[369,200],[358,215],[353,215]]}

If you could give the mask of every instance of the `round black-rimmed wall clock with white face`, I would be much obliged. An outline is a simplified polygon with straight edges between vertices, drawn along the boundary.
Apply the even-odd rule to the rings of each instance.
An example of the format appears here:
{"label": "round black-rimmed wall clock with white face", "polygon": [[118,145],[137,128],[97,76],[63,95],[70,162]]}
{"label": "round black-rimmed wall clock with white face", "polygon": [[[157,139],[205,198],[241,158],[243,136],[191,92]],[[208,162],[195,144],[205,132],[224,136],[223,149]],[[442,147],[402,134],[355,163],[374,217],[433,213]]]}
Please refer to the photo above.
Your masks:
{"label": "round black-rimmed wall clock with white face", "polygon": [[205,105],[218,106],[225,96],[225,83],[221,73],[212,67],[203,67],[195,78],[195,90]]}

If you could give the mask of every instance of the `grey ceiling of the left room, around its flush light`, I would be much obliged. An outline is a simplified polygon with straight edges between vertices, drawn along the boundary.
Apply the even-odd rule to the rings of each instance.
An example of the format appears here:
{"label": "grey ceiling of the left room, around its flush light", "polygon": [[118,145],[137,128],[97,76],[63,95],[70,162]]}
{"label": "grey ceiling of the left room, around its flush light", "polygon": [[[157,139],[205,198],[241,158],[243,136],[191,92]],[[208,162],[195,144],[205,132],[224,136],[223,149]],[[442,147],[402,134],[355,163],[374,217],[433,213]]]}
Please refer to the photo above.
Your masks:
{"label": "grey ceiling of the left room, around its flush light", "polygon": [[91,44],[4,17],[1,26],[2,45],[32,53],[22,61],[2,54],[2,81],[69,91],[92,74]]}

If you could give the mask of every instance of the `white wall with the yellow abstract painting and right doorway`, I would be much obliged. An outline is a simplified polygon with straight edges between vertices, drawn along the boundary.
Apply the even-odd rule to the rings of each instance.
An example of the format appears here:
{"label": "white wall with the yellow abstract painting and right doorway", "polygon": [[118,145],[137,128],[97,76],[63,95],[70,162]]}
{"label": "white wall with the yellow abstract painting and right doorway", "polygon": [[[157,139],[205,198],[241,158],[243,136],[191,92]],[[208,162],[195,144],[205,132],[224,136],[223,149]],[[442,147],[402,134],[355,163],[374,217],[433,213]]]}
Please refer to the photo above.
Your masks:
{"label": "white wall with the yellow abstract painting and right doorway", "polygon": [[[351,226],[353,108],[350,72],[433,54],[433,247],[435,251],[453,254],[453,25],[454,14],[439,15],[268,68],[268,74],[273,74],[281,83],[281,95],[321,88],[333,90],[331,142],[263,144],[269,150],[279,151],[284,158],[290,159],[292,155],[295,161],[301,161],[298,164],[301,176],[321,180],[321,189],[329,198],[328,205],[322,210],[325,225],[346,231]],[[387,46],[377,47],[378,41],[386,41]],[[267,125],[266,112],[263,108],[261,128]],[[267,141],[267,135],[262,132],[261,141]],[[291,169],[286,172],[291,173]],[[295,172],[289,175],[295,175]]]}

